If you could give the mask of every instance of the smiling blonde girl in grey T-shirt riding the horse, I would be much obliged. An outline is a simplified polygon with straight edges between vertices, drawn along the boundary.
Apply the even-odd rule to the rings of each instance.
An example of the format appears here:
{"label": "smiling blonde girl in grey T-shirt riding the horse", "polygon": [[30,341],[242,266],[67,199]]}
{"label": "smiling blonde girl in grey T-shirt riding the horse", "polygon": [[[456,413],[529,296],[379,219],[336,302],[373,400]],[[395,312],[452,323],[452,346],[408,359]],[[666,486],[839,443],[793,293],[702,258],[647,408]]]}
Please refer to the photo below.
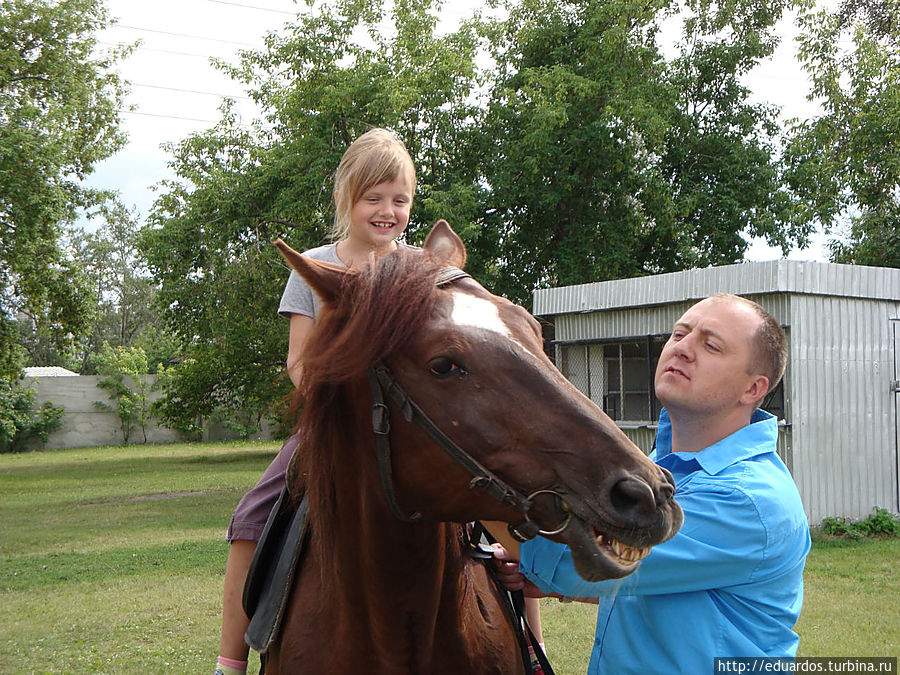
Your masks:
{"label": "smiling blonde girl in grey T-shirt riding the horse", "polygon": [[[403,142],[384,129],[364,133],[344,153],[335,173],[335,241],[304,255],[354,268],[364,265],[370,255],[380,258],[405,246],[397,238],[409,224],[415,189],[415,167]],[[318,297],[292,271],[278,312],[290,319],[287,370],[295,386],[300,381],[303,346],[318,309]],[[285,472],[297,443],[296,436],[285,442],[256,487],[238,504],[228,527],[231,546],[225,569],[216,675],[246,672],[249,648],[244,642],[248,619],[241,603],[244,581],[266,519],[284,487]],[[533,626],[536,623],[531,607],[529,621]]]}

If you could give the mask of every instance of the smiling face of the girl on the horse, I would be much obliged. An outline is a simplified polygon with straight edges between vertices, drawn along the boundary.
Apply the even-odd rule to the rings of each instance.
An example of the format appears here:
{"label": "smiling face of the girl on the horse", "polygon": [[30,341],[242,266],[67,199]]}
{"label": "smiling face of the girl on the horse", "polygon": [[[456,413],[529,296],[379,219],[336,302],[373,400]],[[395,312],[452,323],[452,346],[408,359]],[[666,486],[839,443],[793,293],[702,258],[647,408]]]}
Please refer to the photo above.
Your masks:
{"label": "smiling face of the girl on the horse", "polygon": [[406,176],[369,188],[350,209],[349,238],[367,248],[387,246],[403,234],[409,224],[412,198]]}

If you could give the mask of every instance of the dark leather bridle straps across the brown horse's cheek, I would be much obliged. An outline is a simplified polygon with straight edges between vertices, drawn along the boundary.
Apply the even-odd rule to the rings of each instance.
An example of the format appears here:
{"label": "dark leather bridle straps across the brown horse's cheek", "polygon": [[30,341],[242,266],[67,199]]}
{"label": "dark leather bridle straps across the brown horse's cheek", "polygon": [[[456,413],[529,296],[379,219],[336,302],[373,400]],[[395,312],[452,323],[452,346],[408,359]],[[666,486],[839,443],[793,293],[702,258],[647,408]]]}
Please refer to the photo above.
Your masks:
{"label": "dark leather bridle straps across the brown horse's cheek", "polygon": [[532,505],[531,498],[508,485],[454,443],[407,395],[384,363],[375,364],[368,372],[368,379],[374,400],[372,406],[372,428],[375,431],[381,483],[388,504],[395,516],[406,522],[414,522],[421,517],[420,514],[406,515],[397,503],[391,471],[390,447],[387,438],[390,432],[389,413],[382,396],[382,388],[400,406],[400,411],[407,422],[415,421],[444,452],[472,474],[473,478],[469,483],[470,487],[480,488],[501,504],[513,506],[525,514],[525,522],[516,526],[519,536],[531,538],[538,534],[539,526],[528,518],[528,512],[531,510]]}

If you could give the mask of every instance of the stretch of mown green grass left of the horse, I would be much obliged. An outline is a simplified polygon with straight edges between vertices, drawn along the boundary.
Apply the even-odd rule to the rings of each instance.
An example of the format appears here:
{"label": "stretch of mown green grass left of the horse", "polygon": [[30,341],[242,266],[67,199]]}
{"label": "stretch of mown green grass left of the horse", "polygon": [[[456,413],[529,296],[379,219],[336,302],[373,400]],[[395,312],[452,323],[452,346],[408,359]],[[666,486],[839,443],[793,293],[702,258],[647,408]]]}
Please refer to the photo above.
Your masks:
{"label": "stretch of mown green grass left of the horse", "polygon": [[0,455],[0,672],[212,672],[225,528],[277,450]]}

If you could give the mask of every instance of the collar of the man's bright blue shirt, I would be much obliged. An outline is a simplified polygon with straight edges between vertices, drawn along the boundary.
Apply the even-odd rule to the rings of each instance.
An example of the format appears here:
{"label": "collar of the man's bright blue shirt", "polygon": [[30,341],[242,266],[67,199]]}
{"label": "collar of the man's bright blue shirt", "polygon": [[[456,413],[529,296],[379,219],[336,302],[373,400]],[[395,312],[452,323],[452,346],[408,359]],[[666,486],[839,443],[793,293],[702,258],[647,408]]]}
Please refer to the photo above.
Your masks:
{"label": "collar of the man's bright blue shirt", "polygon": [[665,408],[659,414],[656,432],[656,458],[666,455],[683,461],[696,461],[708,474],[715,475],[724,468],[756,455],[771,452],[778,440],[778,420],[765,410],[756,409],[750,424],[713,443],[699,452],[672,452],[672,421]]}

